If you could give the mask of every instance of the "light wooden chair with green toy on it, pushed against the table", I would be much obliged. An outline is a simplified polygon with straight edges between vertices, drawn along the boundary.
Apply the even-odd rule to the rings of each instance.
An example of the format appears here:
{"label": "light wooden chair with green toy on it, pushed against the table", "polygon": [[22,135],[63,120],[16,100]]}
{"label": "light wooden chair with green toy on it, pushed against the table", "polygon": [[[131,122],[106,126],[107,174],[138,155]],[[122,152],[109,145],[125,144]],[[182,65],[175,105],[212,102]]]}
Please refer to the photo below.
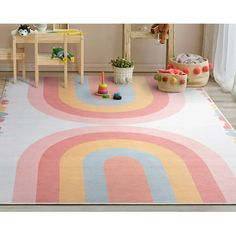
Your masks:
{"label": "light wooden chair with green toy on it, pushed against the table", "polygon": [[[50,38],[49,38],[50,37]],[[39,53],[39,44],[43,43],[62,43],[64,46],[64,55],[67,55],[67,35],[66,34],[38,34],[35,33],[35,86],[39,85],[39,67],[40,66],[64,66],[64,87],[68,83],[68,59],[63,62],[58,58],[51,58],[51,53]]]}

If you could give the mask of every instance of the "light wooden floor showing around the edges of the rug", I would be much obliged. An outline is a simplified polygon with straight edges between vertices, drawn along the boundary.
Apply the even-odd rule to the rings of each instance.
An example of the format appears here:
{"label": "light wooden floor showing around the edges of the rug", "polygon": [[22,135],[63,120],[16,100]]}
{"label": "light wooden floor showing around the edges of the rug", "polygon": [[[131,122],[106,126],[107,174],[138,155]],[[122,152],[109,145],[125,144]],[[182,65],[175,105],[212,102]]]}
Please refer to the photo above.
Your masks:
{"label": "light wooden floor showing around the edges of the rug", "polygon": [[[55,73],[53,73],[55,74]],[[94,75],[94,73],[89,73]],[[48,75],[48,72],[47,72]],[[50,72],[51,75],[51,72]],[[71,73],[70,76],[73,74]],[[12,73],[0,73],[0,96],[4,89],[5,77]],[[28,76],[33,74],[28,73]],[[42,75],[43,76],[43,75]],[[57,73],[58,76],[58,73]],[[60,77],[62,78],[62,73]],[[211,80],[206,91],[236,129],[236,101],[229,93],[224,93]],[[236,205],[2,205],[0,211],[236,211]]]}

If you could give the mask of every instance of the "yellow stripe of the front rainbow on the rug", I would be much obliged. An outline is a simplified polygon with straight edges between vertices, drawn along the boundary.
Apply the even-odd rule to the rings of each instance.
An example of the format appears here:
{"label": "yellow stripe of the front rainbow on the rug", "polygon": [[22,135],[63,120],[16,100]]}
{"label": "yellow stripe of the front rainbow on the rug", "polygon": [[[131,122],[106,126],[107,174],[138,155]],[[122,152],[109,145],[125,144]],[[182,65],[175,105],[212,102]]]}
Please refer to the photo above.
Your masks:
{"label": "yellow stripe of the front rainbow on the rug", "polygon": [[[60,162],[60,202],[85,202],[83,160],[104,148],[133,148],[148,151],[162,162],[178,203],[201,203],[202,199],[183,160],[174,152],[142,141],[100,140],[77,145]],[[114,153],[115,154],[115,153]]]}

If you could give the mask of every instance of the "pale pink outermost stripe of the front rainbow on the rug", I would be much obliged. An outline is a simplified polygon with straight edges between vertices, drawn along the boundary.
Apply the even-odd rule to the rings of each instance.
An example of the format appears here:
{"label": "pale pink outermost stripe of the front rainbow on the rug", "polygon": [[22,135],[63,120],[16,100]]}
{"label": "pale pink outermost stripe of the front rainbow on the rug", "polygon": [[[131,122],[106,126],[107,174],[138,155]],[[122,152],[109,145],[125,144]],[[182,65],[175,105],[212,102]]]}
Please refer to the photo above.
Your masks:
{"label": "pale pink outermost stripe of the front rainbow on the rug", "polygon": [[32,144],[28,149],[26,149],[26,151],[22,154],[21,159],[19,160],[16,172],[13,201],[35,202],[37,191],[38,165],[44,152],[53,144],[59,143],[64,139],[72,138],[78,134],[92,134],[93,136],[96,136],[98,132],[110,132],[111,130],[114,132],[120,132],[121,136],[123,135],[123,133],[126,133],[127,130],[129,130],[129,132],[133,134],[135,134],[136,132],[139,132],[140,134],[149,133],[151,135],[158,135],[166,139],[171,138],[171,140],[176,143],[187,145],[188,148],[197,153],[198,156],[207,164],[221,191],[224,193],[227,202],[236,201],[236,178],[225,161],[218,154],[214,153],[206,146],[189,138],[185,138],[184,136],[160,130],[126,126],[101,126],[72,129],[52,134]]}

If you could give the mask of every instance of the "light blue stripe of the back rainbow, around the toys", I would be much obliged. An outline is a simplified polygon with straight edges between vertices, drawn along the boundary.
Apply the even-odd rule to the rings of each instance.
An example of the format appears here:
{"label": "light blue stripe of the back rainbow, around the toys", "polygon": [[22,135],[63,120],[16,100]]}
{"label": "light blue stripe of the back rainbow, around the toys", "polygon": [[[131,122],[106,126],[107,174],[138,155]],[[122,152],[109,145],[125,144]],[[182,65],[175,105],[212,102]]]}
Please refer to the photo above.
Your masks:
{"label": "light blue stripe of the back rainbow, around the toys", "polygon": [[[122,96],[121,100],[97,99],[95,95],[91,93],[88,80],[89,78],[84,80],[83,86],[80,86],[80,84],[77,83],[77,81],[80,81],[78,77],[75,80],[75,83],[77,84],[77,86],[75,86],[76,96],[80,101],[100,106],[117,106],[130,103],[135,99],[135,91],[131,84],[116,85]],[[94,79],[94,83],[99,84],[99,80]]]}

